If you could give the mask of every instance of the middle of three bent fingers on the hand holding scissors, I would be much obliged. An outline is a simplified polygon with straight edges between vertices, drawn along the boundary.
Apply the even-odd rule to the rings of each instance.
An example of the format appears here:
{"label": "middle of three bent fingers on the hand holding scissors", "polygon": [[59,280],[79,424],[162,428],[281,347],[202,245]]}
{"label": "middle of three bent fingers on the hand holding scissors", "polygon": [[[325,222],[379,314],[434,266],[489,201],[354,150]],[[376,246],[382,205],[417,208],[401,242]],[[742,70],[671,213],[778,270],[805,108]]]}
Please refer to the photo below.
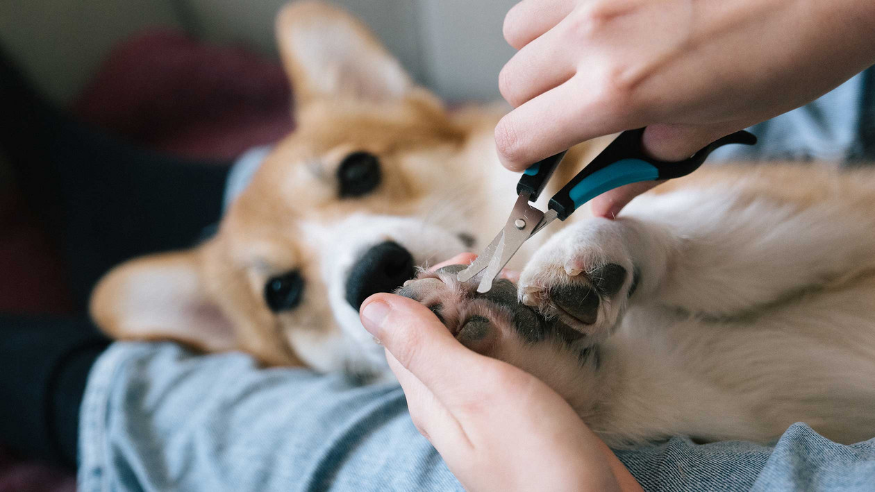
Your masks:
{"label": "middle of three bent fingers on the hand holding scissors", "polygon": [[511,106],[519,107],[574,76],[576,65],[562,37],[557,30],[544,33],[523,46],[501,69],[499,92]]}

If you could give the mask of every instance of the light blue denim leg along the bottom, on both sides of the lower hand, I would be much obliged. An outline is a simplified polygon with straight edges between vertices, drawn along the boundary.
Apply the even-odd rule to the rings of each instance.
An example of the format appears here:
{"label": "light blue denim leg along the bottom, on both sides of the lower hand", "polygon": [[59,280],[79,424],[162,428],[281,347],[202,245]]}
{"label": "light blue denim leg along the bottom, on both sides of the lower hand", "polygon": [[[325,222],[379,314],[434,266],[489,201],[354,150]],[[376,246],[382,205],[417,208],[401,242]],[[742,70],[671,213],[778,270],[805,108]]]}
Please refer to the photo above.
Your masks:
{"label": "light blue denim leg along the bottom, on both sides of the lower hand", "polygon": [[[875,440],[842,446],[804,424],[774,447],[678,437],[618,455],[646,490],[875,489]],[[81,492],[462,490],[398,385],[173,343],[115,343],[98,359],[80,461]]]}

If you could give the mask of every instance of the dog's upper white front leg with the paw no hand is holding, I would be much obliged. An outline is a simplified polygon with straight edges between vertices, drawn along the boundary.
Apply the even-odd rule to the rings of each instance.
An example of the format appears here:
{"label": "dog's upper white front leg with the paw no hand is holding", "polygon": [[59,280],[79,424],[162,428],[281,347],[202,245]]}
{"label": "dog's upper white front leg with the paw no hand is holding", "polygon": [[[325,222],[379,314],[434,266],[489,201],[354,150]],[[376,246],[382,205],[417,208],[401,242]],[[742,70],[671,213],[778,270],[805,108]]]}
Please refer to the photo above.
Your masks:
{"label": "dog's upper white front leg with the paw no hand is holding", "polygon": [[875,221],[711,188],[638,197],[621,218],[566,226],[523,269],[521,299],[607,335],[630,301],[726,317],[875,267]]}

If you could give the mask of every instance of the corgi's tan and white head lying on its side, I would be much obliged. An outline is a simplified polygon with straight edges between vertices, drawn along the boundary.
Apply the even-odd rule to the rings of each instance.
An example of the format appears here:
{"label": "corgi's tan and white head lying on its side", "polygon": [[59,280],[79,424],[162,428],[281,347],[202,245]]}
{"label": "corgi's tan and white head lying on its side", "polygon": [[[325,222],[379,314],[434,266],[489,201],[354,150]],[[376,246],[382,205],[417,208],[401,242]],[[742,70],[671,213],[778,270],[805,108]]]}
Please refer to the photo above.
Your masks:
{"label": "corgi's tan and white head lying on its side", "polygon": [[[498,166],[491,128],[448,114],[341,10],[292,4],[277,35],[297,129],[213,239],[116,267],[95,289],[92,313],[118,338],[241,349],[267,364],[324,371],[380,370],[361,301],[494,233],[481,226],[486,204],[478,203],[478,173]],[[489,131],[478,140],[475,128]],[[505,212],[506,186],[507,203],[493,204]]]}

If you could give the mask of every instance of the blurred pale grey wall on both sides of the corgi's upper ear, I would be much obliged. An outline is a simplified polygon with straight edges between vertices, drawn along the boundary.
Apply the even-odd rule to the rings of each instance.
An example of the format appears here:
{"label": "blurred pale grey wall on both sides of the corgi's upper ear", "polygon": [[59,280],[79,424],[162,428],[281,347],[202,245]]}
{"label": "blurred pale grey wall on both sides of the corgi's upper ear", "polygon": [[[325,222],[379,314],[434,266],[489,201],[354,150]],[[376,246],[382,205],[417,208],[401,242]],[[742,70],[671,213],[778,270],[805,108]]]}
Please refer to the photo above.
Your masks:
{"label": "blurred pale grey wall on both sides of the corgi's upper ear", "polygon": [[[513,54],[501,38],[517,0],[333,0],[369,24],[414,78],[449,100],[499,98]],[[285,0],[0,0],[0,41],[53,99],[69,100],[112,45],[147,26],[185,26],[276,56]]]}

